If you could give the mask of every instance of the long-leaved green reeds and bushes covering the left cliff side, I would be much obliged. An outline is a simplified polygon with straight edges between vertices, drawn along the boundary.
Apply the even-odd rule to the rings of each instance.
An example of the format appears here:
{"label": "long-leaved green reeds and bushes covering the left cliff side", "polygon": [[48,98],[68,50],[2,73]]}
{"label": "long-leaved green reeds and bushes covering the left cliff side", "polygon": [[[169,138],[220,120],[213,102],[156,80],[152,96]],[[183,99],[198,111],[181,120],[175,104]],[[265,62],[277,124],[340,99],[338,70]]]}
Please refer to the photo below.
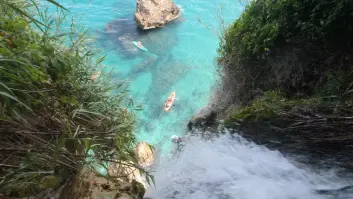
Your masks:
{"label": "long-leaved green reeds and bushes covering the left cliff side", "polygon": [[89,150],[136,163],[125,84],[100,71],[104,57],[86,48],[86,31],[60,32],[64,8],[53,18],[37,6],[0,0],[0,193],[14,197],[58,186]]}

